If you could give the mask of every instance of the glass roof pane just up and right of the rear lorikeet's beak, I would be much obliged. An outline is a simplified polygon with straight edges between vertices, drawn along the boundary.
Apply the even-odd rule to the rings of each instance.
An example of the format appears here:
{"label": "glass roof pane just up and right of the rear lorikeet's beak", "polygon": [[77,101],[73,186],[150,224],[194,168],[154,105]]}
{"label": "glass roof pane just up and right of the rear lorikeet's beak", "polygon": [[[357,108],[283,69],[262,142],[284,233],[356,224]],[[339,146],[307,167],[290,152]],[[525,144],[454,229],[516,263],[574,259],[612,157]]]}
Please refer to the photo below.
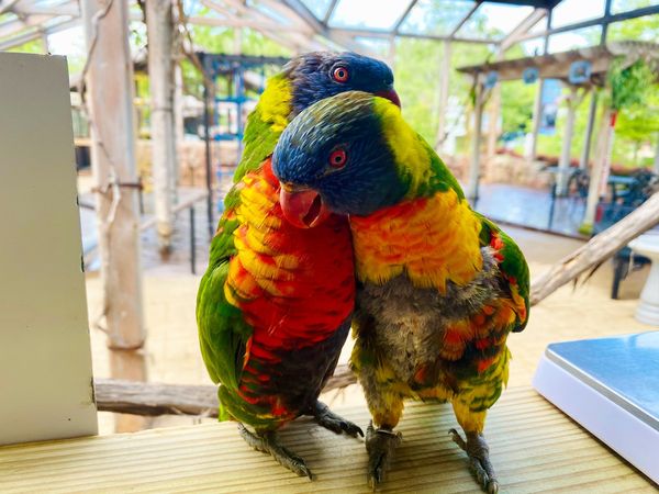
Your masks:
{"label": "glass roof pane just up and right of the rear lorikeet's beak", "polygon": [[466,0],[421,0],[401,25],[401,33],[450,34],[476,2]]}

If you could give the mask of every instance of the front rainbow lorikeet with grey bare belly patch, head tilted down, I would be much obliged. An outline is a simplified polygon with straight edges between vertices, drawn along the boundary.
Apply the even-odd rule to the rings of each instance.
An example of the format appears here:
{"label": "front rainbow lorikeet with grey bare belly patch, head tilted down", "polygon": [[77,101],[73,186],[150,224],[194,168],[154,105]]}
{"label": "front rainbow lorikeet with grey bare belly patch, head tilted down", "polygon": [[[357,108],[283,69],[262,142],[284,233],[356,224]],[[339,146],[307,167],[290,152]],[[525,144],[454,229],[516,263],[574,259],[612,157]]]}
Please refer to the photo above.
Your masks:
{"label": "front rainbow lorikeet with grey bare belly patch, head tilted down", "polygon": [[507,381],[506,337],[528,317],[520,248],[470,209],[400,109],[372,94],[346,92],[302,112],[281,135],[272,169],[291,223],[313,223],[325,210],[349,216],[351,366],[377,426],[367,429],[369,482],[382,481],[400,442],[403,400],[432,398],[451,402],[466,434],[451,430],[454,440],[495,492],[483,427]]}

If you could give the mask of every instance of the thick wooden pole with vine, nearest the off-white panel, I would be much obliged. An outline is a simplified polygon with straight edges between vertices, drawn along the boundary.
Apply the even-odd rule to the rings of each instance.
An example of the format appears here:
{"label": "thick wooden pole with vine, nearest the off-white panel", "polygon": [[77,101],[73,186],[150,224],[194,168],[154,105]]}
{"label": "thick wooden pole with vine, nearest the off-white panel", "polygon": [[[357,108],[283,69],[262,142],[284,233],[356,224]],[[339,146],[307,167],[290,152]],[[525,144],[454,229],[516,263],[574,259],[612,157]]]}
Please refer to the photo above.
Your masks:
{"label": "thick wooden pole with vine, nearest the off-white panel", "polygon": [[[87,99],[91,162],[96,181],[103,316],[111,374],[146,380],[138,351],[145,339],[142,315],[139,216],[133,115],[133,61],[129,47],[129,8],[123,0],[81,2],[88,59]],[[119,430],[143,420],[118,422]]]}

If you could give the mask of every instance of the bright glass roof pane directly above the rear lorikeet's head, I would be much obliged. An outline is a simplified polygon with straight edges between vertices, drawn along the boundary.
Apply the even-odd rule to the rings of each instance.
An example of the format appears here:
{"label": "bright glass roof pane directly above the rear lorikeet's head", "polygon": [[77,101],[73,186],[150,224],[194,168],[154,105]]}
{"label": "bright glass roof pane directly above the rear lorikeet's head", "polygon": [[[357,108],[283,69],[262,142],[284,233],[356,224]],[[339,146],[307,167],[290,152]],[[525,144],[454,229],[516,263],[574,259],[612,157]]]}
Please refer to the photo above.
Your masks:
{"label": "bright glass roof pane directly above the rear lorikeet's head", "polygon": [[339,0],[330,19],[333,27],[391,30],[411,0]]}

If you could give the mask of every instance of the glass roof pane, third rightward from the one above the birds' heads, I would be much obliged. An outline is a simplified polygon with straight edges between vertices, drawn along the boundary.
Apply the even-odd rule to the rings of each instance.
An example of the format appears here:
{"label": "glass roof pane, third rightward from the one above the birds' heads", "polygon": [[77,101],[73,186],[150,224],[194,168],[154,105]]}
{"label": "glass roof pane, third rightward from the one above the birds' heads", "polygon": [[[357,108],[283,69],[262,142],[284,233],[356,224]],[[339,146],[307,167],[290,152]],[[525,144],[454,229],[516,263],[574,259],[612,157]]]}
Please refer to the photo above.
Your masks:
{"label": "glass roof pane, third rightward from the one above the birds' heads", "polygon": [[501,40],[533,12],[533,7],[481,3],[458,36]]}

